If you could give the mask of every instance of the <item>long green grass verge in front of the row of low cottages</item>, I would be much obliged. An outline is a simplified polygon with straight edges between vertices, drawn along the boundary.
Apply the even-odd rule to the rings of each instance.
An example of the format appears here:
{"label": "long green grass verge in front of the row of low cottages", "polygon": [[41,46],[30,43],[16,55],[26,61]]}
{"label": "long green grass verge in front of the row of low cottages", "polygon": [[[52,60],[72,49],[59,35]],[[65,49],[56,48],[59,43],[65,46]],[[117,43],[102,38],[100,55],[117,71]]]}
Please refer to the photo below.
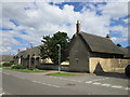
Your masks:
{"label": "long green grass verge in front of the row of low cottages", "polygon": [[35,72],[47,72],[49,70],[28,70],[28,69],[12,69],[11,67],[3,67],[3,69],[20,71],[20,72],[28,72],[28,73],[35,73]]}

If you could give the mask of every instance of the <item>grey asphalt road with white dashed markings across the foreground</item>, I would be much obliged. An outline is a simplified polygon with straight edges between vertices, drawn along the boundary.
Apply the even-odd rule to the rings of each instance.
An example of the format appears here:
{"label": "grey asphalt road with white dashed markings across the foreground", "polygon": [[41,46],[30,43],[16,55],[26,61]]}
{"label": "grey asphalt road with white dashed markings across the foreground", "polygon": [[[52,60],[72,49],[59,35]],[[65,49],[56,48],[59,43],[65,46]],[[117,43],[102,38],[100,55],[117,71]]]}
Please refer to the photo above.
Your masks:
{"label": "grey asphalt road with white dashed markings across the foreground", "polygon": [[50,77],[2,70],[3,95],[128,95],[128,84],[126,78]]}

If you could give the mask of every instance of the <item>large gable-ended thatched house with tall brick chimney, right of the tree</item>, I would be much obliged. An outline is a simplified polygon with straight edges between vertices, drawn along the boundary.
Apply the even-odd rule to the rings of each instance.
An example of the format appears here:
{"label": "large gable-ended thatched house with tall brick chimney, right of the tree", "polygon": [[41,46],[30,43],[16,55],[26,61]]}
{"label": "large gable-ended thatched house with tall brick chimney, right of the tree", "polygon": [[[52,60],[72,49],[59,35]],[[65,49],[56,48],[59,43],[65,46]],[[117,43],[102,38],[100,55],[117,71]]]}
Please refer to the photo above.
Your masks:
{"label": "large gable-ended thatched house with tall brick chimney, right of the tree", "polygon": [[125,68],[128,60],[120,63],[123,56],[125,52],[113,43],[108,34],[103,38],[82,32],[77,22],[77,32],[69,47],[70,71],[100,72]]}

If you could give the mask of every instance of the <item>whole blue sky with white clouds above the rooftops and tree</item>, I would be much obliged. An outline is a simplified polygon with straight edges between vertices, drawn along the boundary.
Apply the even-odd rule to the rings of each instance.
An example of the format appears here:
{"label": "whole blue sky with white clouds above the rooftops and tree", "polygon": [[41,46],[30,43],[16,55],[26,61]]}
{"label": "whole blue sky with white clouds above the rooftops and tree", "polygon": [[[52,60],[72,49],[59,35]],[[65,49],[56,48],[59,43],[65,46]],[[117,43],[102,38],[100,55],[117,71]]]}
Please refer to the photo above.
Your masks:
{"label": "whole blue sky with white clouds above the rooftops and tree", "polygon": [[0,3],[0,54],[16,54],[42,44],[43,36],[64,31],[69,38],[81,30],[128,46],[128,2],[3,2]]}

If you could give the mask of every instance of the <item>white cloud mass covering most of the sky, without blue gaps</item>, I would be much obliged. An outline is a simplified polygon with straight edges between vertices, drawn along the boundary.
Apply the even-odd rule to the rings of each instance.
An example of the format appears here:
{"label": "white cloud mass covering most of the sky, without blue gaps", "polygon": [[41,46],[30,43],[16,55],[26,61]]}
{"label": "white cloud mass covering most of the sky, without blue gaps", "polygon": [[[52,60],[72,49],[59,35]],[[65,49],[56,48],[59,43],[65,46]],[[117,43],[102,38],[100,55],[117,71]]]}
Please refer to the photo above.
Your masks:
{"label": "white cloud mass covering most of the sky, without blue gaps", "polygon": [[[21,41],[13,39],[13,37],[20,37],[34,45],[41,44],[40,40],[43,36],[52,36],[57,31],[65,31],[72,38],[76,32],[75,24],[77,19],[81,22],[82,31],[105,37],[106,33],[109,33],[109,30],[119,30],[122,38],[113,40],[116,42],[126,41],[127,28],[122,26],[109,27],[109,24],[110,18],[119,18],[127,15],[127,3],[107,3],[99,4],[98,6],[90,3],[88,4],[90,9],[87,9],[84,3],[82,5],[83,9],[80,12],[75,12],[75,6],[68,4],[60,9],[58,5],[51,5],[47,2],[3,3],[2,27],[13,29],[2,31],[4,50],[11,47],[14,51],[13,45],[24,45],[21,44]],[[102,15],[96,14],[99,10]],[[18,26],[10,22],[10,19],[16,22]],[[22,33],[22,30],[26,31],[26,34]]]}

